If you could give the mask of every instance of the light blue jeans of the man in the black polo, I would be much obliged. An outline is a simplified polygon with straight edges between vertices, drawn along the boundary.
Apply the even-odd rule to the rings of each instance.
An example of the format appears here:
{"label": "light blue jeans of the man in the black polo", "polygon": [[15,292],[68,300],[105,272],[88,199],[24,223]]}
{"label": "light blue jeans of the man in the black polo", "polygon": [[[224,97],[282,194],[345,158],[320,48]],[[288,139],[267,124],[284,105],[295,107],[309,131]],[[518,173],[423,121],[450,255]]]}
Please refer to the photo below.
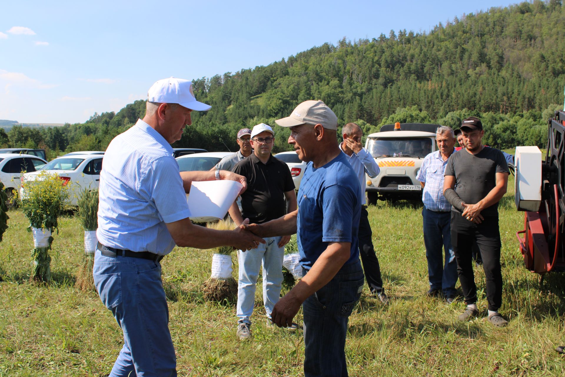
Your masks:
{"label": "light blue jeans of the man in the black polo", "polygon": [[238,252],[240,270],[236,314],[240,323],[251,324],[249,318],[255,304],[255,286],[261,263],[263,263],[263,302],[267,317],[271,317],[273,307],[281,295],[284,246],[279,248],[281,237],[267,237],[264,240],[265,244],[259,244],[256,249]]}

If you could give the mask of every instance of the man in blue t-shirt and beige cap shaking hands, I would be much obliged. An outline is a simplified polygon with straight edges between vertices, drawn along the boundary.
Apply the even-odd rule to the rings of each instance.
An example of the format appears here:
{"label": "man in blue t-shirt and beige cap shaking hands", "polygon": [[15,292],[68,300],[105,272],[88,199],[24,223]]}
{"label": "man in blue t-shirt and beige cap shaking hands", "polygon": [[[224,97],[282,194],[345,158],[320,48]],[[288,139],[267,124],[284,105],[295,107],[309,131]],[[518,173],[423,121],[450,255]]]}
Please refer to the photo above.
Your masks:
{"label": "man in blue t-shirt and beige cap shaking hands", "polygon": [[305,101],[275,121],[290,127],[289,144],[308,162],[298,191],[298,210],[247,229],[260,237],[292,235],[305,276],[275,305],[279,327],[292,324],[302,305],[304,373],[347,376],[347,320],[363,290],[357,233],[361,187],[337,144],[337,116],[324,102]]}

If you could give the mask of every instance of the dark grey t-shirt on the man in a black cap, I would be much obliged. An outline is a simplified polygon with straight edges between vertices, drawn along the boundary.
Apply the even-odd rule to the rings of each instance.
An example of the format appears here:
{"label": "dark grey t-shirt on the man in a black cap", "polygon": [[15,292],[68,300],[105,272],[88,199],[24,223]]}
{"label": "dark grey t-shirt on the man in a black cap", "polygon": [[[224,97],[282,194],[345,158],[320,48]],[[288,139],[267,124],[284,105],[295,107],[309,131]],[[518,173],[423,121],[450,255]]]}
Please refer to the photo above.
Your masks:
{"label": "dark grey t-shirt on the man in a black cap", "polygon": [[[455,176],[455,192],[464,202],[475,204],[496,186],[497,173],[509,173],[506,159],[498,149],[485,146],[477,154],[465,149],[452,154],[444,175]],[[455,207],[451,207],[451,210],[461,213]],[[481,215],[498,215],[498,202],[486,207]]]}

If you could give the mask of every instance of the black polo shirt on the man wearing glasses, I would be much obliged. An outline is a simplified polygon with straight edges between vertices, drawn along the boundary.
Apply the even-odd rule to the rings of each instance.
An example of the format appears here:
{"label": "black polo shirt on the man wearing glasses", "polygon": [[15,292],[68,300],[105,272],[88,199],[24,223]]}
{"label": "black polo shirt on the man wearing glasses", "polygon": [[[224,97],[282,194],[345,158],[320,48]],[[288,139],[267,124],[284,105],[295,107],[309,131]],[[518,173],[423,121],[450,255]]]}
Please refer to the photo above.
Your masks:
{"label": "black polo shirt on the man wearing glasses", "polygon": [[252,153],[236,163],[232,171],[247,179],[247,189],[241,194],[241,215],[244,219],[262,224],[286,214],[284,193],[294,190],[286,163],[271,155],[264,164]]}

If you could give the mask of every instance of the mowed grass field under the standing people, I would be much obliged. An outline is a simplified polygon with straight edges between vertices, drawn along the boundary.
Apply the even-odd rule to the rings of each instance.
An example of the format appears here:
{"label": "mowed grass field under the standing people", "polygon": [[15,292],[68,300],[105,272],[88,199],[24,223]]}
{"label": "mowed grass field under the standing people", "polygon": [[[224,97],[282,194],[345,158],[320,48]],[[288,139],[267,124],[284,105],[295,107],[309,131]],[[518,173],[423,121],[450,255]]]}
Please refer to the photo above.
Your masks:
{"label": "mowed grass field under the standing people", "polygon": [[[565,275],[548,275],[540,289],[539,276],[523,267],[515,236],[523,227],[523,213],[515,210],[513,192],[511,176],[500,206],[501,313],[510,325],[500,329],[484,318],[481,268],[475,268],[480,318],[459,323],[462,301],[447,305],[426,296],[421,205],[379,202],[369,208],[391,300],[381,305],[365,286],[347,335],[351,376],[565,375],[565,357],[554,351],[565,344]],[[9,215],[10,228],[0,243],[0,376],[107,375],[123,340],[97,294],[74,286],[84,250],[78,220],[60,219],[51,262],[54,281],[45,287],[29,283],[33,241],[25,230],[28,223],[18,210]],[[162,262],[179,375],[303,375],[302,332],[266,326],[260,288],[253,339],[246,342],[236,340],[234,304],[202,299],[200,287],[210,276],[211,258],[210,251],[176,248]],[[284,292],[289,288],[285,285]],[[297,322],[302,322],[300,312]]]}

